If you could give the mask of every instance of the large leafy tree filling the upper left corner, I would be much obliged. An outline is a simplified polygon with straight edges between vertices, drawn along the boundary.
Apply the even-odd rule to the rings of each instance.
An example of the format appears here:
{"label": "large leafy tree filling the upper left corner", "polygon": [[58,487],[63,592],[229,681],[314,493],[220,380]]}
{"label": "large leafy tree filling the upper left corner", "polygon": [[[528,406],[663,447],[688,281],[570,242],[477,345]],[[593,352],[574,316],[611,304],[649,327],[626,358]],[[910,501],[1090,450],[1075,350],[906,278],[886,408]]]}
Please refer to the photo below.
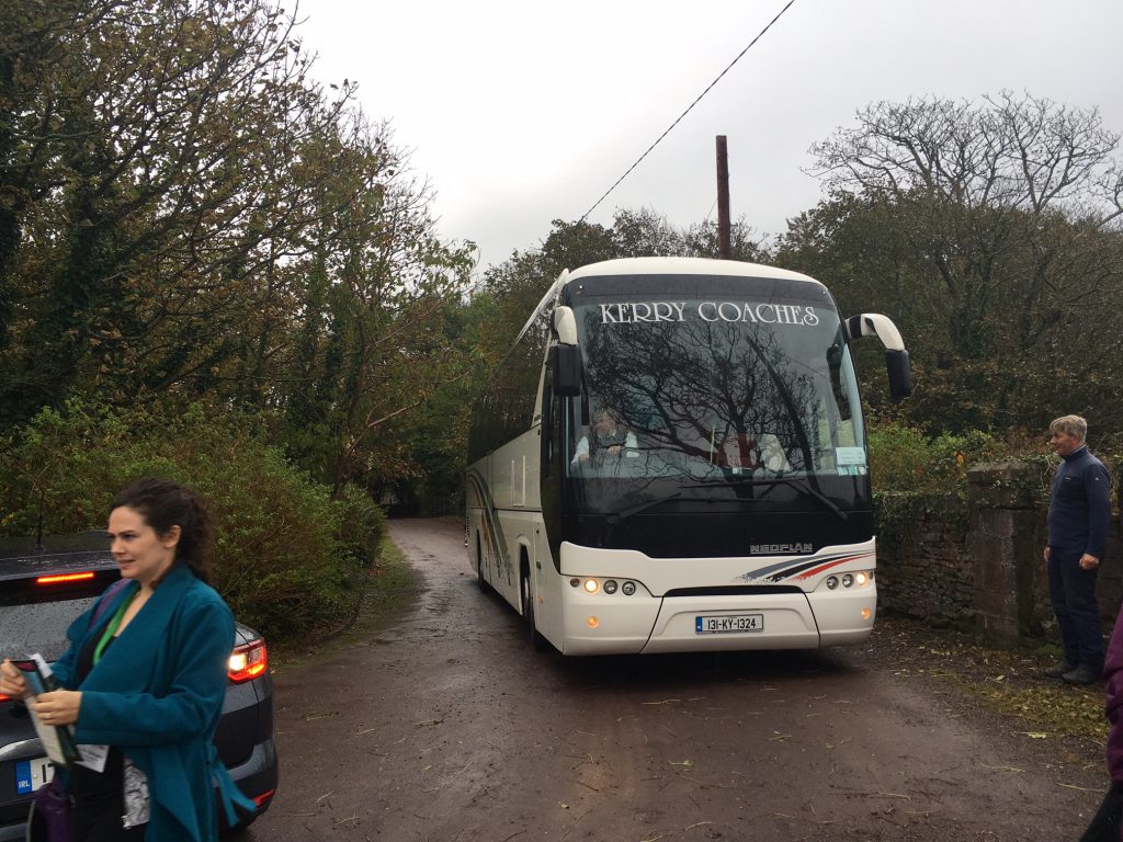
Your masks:
{"label": "large leafy tree filling the upper left corner", "polygon": [[264,265],[305,209],[303,139],[349,92],[325,101],[291,19],[261,0],[20,7],[13,42],[43,61],[13,62],[0,119],[20,315],[0,421],[74,390],[201,391],[253,341],[246,312],[290,303]]}

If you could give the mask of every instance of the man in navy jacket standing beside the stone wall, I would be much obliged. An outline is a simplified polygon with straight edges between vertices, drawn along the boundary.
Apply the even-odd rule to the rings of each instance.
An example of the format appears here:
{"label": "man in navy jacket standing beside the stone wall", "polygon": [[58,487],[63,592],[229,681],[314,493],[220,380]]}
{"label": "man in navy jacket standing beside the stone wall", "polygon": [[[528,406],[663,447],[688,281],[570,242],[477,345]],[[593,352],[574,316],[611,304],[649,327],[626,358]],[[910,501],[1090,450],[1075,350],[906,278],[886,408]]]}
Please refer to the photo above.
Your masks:
{"label": "man in navy jacket standing beside the stone wall", "polygon": [[1087,433],[1088,422],[1079,415],[1049,424],[1049,447],[1061,464],[1049,494],[1044,557],[1065,657],[1047,675],[1068,684],[1092,684],[1104,668],[1096,570],[1112,519],[1111,479],[1103,463],[1088,452]]}

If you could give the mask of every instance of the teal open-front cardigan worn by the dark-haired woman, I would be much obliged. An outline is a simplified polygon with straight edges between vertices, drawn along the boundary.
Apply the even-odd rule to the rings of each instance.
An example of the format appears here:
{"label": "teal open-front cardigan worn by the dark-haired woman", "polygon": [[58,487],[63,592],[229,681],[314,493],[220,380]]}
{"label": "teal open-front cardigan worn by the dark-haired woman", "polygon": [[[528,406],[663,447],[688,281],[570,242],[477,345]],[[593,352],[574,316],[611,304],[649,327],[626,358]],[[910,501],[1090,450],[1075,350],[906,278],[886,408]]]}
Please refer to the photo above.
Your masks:
{"label": "teal open-front cardigan worn by the dark-haired woman", "polygon": [[64,687],[82,692],[75,740],[119,748],[148,778],[146,839],[214,842],[216,782],[229,823],[237,821],[232,804],[254,809],[212,742],[234,648],[234,615],[222,597],[186,565],[175,565],[74,687],[77,653],[138,589],[135,582],[121,587],[92,626],[92,607],[75,620],[66,632],[70,647],[53,669]]}

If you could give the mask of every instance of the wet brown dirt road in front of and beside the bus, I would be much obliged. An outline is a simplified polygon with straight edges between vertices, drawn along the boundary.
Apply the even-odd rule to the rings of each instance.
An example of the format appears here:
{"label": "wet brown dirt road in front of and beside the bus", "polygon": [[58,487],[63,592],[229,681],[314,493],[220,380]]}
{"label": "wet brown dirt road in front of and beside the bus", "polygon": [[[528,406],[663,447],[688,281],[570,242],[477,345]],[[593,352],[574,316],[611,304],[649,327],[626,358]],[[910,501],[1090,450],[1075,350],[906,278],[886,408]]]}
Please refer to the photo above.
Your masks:
{"label": "wet brown dirt road in front of and beside the bus", "polygon": [[414,607],[276,683],[281,790],[244,840],[1075,840],[1101,768],[965,713],[876,648],[566,659],[394,521]]}

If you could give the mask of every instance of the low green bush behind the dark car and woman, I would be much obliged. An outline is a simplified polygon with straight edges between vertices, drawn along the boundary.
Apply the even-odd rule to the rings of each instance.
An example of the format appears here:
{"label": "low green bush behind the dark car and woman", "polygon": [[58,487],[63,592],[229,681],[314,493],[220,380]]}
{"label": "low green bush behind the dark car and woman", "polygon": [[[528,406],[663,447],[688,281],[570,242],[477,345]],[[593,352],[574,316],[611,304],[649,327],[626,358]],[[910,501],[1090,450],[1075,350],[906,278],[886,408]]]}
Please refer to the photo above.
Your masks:
{"label": "low green bush behind the dark car and woman", "polygon": [[44,410],[0,456],[0,534],[103,529],[113,496],[140,476],[188,485],[216,521],[213,584],[271,640],[338,625],[385,531],[363,492],[329,489],[267,443],[259,421],[203,404],[112,412],[80,402]]}

